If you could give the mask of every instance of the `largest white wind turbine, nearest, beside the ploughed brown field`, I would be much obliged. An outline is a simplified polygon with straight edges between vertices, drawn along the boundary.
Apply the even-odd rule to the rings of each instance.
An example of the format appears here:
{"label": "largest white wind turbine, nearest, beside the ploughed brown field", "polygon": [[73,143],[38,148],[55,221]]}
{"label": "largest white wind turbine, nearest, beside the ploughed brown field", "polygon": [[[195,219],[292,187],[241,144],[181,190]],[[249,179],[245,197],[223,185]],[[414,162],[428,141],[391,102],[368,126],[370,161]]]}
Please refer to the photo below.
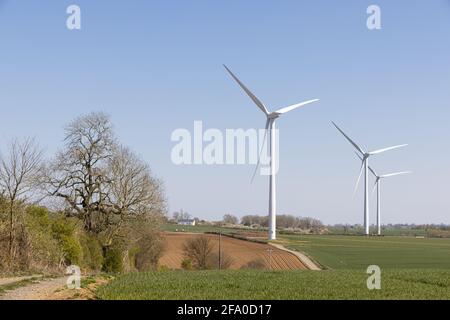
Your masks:
{"label": "largest white wind turbine, nearest, beside the ploughed brown field", "polygon": [[[250,97],[250,99],[253,100],[253,102],[258,106],[258,108],[261,109],[261,111],[266,116],[266,126],[265,126],[265,133],[269,130],[269,145],[270,145],[270,181],[269,181],[269,240],[275,240],[276,239],[276,218],[277,218],[277,196],[276,196],[276,179],[275,179],[275,150],[276,150],[276,137],[275,137],[275,120],[281,116],[282,114],[285,114],[289,111],[292,111],[294,109],[300,108],[304,105],[307,105],[312,102],[316,102],[319,99],[313,99],[308,100],[305,102],[297,103],[288,107],[284,107],[281,109],[278,109],[273,112],[269,112],[266,108],[266,106],[231,72],[230,69],[226,65],[223,65],[225,69],[228,71],[228,73],[231,75],[231,77],[239,84],[239,86],[245,91],[245,93]],[[264,141],[266,138],[266,134],[264,134],[264,140],[262,145],[264,145]],[[258,158],[258,165],[259,165],[259,158]],[[258,165],[256,166],[256,170],[258,169]],[[253,174],[254,176],[254,174]]]}

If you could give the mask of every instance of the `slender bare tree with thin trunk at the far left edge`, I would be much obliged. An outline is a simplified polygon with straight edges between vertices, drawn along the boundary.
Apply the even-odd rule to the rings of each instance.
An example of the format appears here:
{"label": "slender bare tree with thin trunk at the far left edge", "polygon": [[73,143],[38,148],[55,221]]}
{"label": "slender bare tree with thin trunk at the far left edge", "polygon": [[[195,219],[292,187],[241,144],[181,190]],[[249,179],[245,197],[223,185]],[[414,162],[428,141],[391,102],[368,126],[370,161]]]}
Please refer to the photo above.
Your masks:
{"label": "slender bare tree with thin trunk at the far left edge", "polygon": [[8,201],[8,258],[14,261],[15,210],[37,186],[42,172],[42,150],[34,139],[13,140],[6,156],[0,157],[0,189]]}

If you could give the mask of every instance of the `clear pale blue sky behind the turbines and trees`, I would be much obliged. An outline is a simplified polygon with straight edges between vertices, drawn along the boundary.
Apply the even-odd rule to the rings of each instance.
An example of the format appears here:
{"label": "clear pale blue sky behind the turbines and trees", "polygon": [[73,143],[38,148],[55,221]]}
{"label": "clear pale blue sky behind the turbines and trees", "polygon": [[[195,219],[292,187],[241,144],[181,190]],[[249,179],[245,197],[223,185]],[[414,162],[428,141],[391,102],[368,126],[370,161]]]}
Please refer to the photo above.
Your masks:
{"label": "clear pale blue sky behind the turbines and trees", "polygon": [[[78,4],[82,29],[65,26]],[[377,4],[382,29],[366,28]],[[36,136],[51,156],[62,126],[105,111],[121,141],[165,181],[170,211],[267,212],[253,167],[175,166],[176,128],[257,128],[264,117],[222,68],[270,108],[312,98],[280,128],[279,213],[362,223],[359,164],[334,120],[386,180],[384,222],[450,223],[450,1],[0,0],[0,143]],[[372,199],[372,222],[375,221]]]}

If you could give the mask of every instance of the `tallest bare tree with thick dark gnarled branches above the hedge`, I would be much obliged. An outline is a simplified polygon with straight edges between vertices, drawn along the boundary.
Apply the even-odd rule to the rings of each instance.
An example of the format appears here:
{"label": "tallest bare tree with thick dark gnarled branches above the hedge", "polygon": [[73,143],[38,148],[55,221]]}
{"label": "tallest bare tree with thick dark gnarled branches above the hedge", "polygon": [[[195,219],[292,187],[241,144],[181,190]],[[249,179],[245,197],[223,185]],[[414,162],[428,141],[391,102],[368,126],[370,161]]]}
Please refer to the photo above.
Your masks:
{"label": "tallest bare tree with thick dark gnarled branches above the hedge", "polygon": [[80,117],[66,127],[66,146],[47,170],[50,196],[64,199],[68,215],[77,216],[87,231],[95,232],[94,215],[102,200],[102,184],[112,157],[114,137],[102,113]]}

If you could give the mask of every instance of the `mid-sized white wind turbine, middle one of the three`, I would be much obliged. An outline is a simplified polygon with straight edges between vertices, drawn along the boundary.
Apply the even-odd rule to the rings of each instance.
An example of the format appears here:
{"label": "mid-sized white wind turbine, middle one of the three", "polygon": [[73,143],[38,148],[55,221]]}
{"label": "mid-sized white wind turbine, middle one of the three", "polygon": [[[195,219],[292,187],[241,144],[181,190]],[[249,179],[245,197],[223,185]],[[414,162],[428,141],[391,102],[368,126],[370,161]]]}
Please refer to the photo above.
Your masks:
{"label": "mid-sized white wind turbine, middle one of the three", "polygon": [[[353,194],[356,193],[356,190],[358,189],[359,180],[361,180],[361,175],[364,170],[364,234],[369,235],[369,174],[368,174],[368,168],[369,168],[369,157],[375,154],[379,154],[388,150],[393,150],[397,148],[401,148],[404,146],[407,146],[407,144],[401,144],[393,147],[378,149],[375,151],[369,151],[365,152],[359,145],[357,145],[352,139],[350,139],[344,131],[342,131],[336,123],[332,121],[333,125],[336,127],[336,129],[339,130],[340,133],[350,142],[356,149],[357,152],[361,155],[361,169],[359,171],[358,180],[356,180],[356,186],[355,190],[353,191]],[[359,155],[358,154],[358,155]]]}

